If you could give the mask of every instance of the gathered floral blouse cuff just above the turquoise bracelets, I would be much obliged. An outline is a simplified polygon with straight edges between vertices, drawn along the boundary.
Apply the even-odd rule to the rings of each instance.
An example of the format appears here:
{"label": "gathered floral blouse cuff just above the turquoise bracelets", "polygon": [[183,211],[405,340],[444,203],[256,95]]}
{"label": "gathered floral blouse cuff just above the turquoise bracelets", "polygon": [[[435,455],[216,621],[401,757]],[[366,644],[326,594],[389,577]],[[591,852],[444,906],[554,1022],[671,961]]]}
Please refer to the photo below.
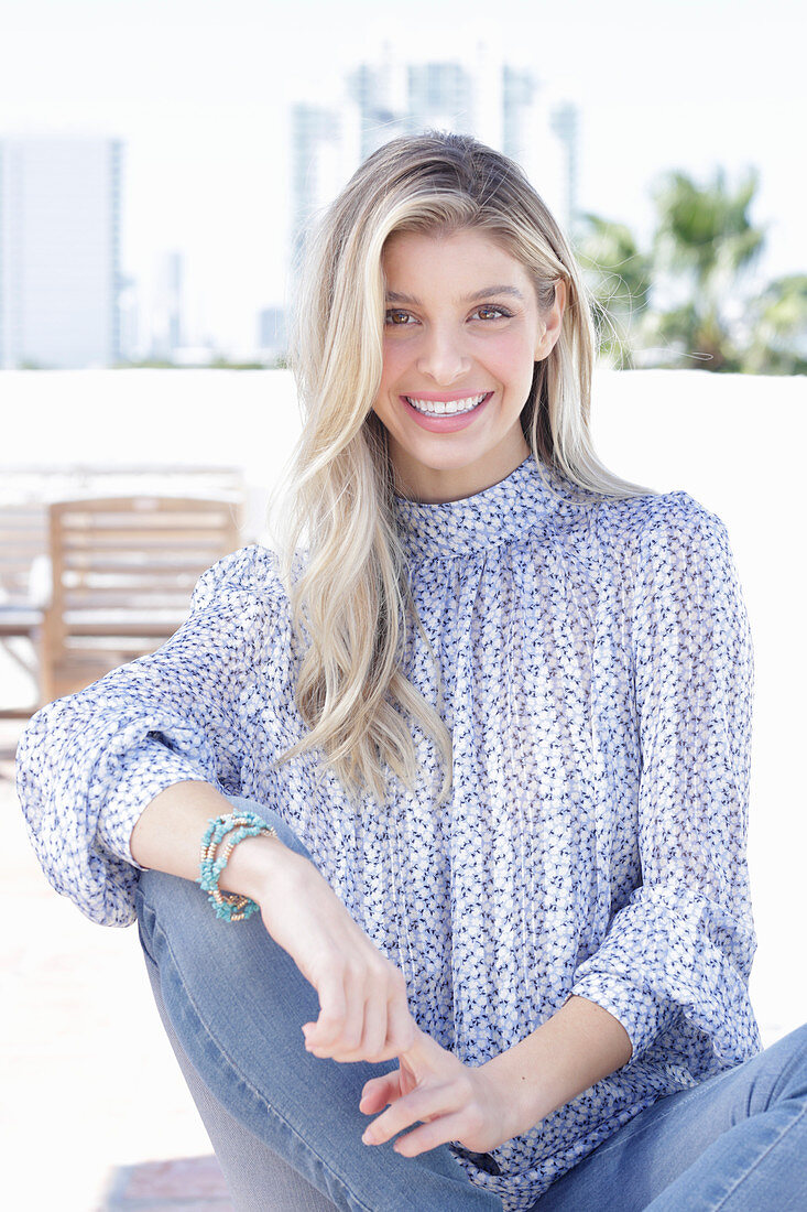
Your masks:
{"label": "gathered floral blouse cuff just above the turquoise bracelets", "polygon": [[154,737],[145,737],[137,749],[116,758],[114,767],[109,767],[113,789],[98,819],[97,839],[104,850],[144,871],[132,858],[132,830],[160,791],[188,779],[210,782],[201,765],[173,753]]}

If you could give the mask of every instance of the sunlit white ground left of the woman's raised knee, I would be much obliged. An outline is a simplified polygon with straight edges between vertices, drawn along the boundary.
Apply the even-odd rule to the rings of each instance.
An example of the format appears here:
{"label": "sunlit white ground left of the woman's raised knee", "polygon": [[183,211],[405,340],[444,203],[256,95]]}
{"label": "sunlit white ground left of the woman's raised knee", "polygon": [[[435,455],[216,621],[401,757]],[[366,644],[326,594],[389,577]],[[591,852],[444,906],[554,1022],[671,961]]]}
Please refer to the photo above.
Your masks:
{"label": "sunlit white ground left of the woman's raised knee", "polygon": [[0,724],[2,1202],[13,1212],[231,1212],[151,999],[137,930],[45,881]]}

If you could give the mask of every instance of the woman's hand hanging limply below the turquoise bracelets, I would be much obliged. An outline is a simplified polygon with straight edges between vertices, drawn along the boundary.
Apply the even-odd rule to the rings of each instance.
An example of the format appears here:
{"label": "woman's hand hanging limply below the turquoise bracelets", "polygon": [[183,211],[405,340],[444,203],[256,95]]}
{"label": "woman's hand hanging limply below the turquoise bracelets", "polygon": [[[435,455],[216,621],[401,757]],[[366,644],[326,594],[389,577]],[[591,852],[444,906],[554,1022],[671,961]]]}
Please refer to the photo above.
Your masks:
{"label": "woman's hand hanging limply below the turquoise bracelets", "polygon": [[[246,846],[236,847],[233,858]],[[399,1056],[412,1046],[416,1030],[402,973],[355,924],[313,863],[276,841],[267,847],[276,861],[268,873],[264,867],[263,880],[250,894],[261,905],[268,932],[319,995],[319,1018],[303,1027],[305,1047],[342,1062]]]}

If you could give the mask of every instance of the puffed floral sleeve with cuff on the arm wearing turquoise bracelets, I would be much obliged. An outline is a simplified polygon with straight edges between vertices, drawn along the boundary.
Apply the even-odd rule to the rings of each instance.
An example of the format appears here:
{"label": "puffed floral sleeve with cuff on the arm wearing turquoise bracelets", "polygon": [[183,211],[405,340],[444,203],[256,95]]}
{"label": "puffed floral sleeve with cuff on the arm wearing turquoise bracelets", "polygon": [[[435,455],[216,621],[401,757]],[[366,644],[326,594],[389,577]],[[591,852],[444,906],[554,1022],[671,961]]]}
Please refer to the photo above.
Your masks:
{"label": "puffed floral sleeve with cuff on the arm wearing turquoise bracelets", "polygon": [[48,881],[92,921],[134,920],[138,868],[128,840],[172,783],[236,794],[241,703],[256,646],[279,607],[273,553],[242,548],[208,568],[190,613],[156,652],[38,711],[17,751],[17,790]]}

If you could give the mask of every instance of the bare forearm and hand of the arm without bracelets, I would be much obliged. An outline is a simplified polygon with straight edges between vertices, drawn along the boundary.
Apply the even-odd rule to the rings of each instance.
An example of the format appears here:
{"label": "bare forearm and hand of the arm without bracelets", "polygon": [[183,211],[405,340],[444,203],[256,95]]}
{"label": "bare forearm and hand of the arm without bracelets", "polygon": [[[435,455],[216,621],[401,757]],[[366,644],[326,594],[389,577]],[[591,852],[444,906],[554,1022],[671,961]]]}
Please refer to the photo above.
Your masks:
{"label": "bare forearm and hand of the arm without bracelets", "polygon": [[479,1068],[418,1031],[397,1071],[365,1086],[360,1107],[366,1115],[391,1107],[364,1140],[382,1144],[420,1120],[395,1143],[406,1157],[448,1140],[488,1153],[620,1069],[630,1054],[624,1027],[585,997],[570,997],[525,1040]]}

